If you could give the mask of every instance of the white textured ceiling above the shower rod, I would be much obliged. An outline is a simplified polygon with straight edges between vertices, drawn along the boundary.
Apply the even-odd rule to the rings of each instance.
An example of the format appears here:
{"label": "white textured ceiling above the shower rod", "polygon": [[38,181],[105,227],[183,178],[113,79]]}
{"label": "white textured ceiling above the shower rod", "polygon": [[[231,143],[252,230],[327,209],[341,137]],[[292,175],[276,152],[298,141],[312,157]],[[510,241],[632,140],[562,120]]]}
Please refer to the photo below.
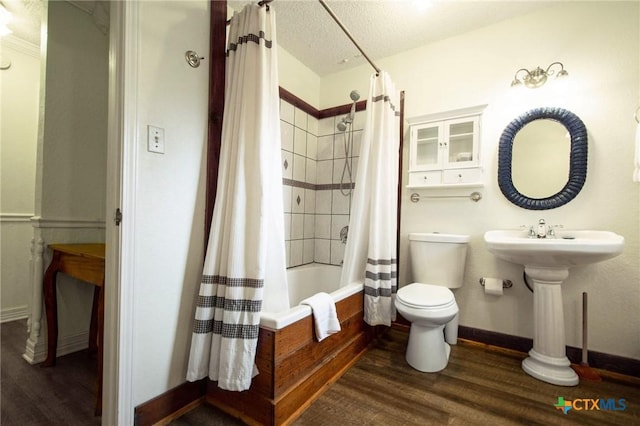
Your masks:
{"label": "white textured ceiling above the shower rod", "polygon": [[[240,10],[248,1],[229,1]],[[376,59],[542,7],[548,1],[327,0],[366,54]],[[432,3],[420,9],[415,3]],[[278,44],[320,76],[366,59],[317,0],[275,0]],[[344,63],[344,60],[347,60]]]}

